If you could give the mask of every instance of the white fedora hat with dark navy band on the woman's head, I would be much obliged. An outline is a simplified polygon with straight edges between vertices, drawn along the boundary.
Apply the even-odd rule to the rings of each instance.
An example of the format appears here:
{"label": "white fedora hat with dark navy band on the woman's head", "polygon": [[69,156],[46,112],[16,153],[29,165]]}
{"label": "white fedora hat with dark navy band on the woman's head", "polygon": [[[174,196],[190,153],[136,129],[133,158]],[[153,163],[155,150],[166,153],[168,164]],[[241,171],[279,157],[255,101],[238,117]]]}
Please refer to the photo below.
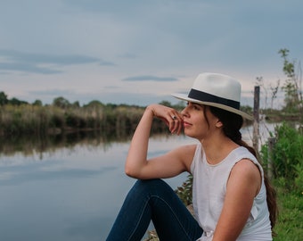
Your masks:
{"label": "white fedora hat with dark navy band on the woman's head", "polygon": [[194,80],[188,95],[172,94],[172,96],[184,101],[215,106],[253,120],[252,116],[240,111],[241,84],[238,80],[224,74],[201,73]]}

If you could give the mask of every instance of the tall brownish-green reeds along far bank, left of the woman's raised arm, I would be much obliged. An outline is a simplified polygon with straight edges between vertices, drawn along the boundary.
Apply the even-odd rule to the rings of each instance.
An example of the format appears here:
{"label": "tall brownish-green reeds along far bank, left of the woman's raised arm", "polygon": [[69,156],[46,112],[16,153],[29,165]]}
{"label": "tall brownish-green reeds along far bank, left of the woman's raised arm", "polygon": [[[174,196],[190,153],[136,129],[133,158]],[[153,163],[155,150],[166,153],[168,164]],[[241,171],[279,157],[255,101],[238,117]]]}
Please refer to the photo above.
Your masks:
{"label": "tall brownish-green reeds along far bank, left of the woman's raised arm", "polygon": [[95,129],[121,137],[134,132],[143,107],[93,105],[60,108],[53,105],[4,105],[0,109],[0,135],[44,136]]}

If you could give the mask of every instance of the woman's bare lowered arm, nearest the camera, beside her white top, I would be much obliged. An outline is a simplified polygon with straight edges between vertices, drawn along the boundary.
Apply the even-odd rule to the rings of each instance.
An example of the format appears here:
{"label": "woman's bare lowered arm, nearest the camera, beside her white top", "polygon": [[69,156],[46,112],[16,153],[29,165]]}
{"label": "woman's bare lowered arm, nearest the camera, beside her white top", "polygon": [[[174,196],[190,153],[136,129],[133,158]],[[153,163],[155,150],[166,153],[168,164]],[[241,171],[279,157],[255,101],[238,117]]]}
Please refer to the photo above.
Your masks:
{"label": "woman's bare lowered arm, nearest the camera, beside her white top", "polygon": [[256,164],[243,159],[234,165],[213,241],[234,241],[239,237],[250,217],[254,197],[258,195],[260,187],[261,174]]}

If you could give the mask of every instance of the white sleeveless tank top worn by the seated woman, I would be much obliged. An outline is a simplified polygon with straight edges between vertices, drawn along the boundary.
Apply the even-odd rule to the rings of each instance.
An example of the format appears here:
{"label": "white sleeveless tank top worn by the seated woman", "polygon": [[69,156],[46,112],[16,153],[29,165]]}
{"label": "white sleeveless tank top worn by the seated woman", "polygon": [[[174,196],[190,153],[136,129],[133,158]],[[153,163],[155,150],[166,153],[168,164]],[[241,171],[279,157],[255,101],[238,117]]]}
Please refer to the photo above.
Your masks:
{"label": "white sleeveless tank top worn by the seated woman", "polygon": [[262,175],[262,185],[237,241],[272,240],[269,212],[266,204],[266,187],[264,173],[256,157],[245,147],[238,147],[228,154],[222,162],[210,165],[201,144],[198,144],[192,160],[192,206],[195,217],[204,233],[199,241],[210,241],[216,229],[226,193],[226,184],[235,163],[243,158],[250,159]]}

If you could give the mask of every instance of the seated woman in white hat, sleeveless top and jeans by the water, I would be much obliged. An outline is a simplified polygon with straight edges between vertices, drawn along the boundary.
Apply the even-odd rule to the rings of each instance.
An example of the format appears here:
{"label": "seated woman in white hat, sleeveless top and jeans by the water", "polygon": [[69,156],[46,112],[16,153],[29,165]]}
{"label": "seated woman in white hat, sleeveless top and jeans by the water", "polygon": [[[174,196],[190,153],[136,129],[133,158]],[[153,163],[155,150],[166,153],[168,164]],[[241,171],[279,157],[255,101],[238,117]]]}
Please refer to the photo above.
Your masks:
{"label": "seated woman in white hat, sleeveless top and jeans by the water", "polygon": [[[202,73],[179,113],[151,104],[132,139],[125,170],[139,179],[129,191],[108,241],[141,240],[152,220],[160,240],[272,240],[274,189],[268,185],[254,150],[242,141],[240,83],[228,76]],[[151,123],[160,118],[171,133],[198,144],[184,145],[147,160]],[[163,180],[192,173],[195,217]],[[266,202],[267,197],[267,202]]]}

